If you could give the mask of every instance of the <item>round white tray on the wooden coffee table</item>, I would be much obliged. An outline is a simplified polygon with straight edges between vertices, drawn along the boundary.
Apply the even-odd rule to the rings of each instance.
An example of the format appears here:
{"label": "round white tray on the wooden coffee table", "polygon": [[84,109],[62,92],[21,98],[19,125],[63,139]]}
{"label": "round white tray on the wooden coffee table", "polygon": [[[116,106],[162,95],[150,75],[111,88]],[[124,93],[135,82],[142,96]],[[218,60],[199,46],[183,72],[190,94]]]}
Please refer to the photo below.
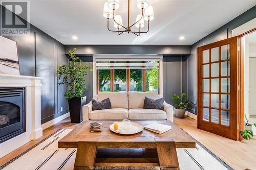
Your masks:
{"label": "round white tray on the wooden coffee table", "polygon": [[141,132],[144,128],[143,126],[141,126],[140,124],[138,123],[135,123],[135,122],[131,122],[131,127],[129,129],[126,129],[126,128],[123,128],[122,127],[122,122],[119,122],[118,123],[118,129],[121,128],[121,131],[115,131],[114,130],[114,124],[110,125],[110,130],[112,132],[115,132],[115,133],[118,133],[118,134],[123,134],[123,135],[132,135],[132,134],[136,134],[136,133],[139,133]]}

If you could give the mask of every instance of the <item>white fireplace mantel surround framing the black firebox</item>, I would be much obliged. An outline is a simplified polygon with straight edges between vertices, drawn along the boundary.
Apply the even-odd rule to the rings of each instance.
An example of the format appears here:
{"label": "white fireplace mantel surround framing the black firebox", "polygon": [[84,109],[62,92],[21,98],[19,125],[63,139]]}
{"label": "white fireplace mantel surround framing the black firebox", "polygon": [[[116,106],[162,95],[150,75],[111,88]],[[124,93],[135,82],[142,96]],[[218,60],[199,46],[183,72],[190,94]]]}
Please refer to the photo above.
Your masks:
{"label": "white fireplace mantel surround framing the black firebox", "polygon": [[40,77],[0,74],[0,87],[25,87],[26,132],[0,143],[0,158],[42,136]]}

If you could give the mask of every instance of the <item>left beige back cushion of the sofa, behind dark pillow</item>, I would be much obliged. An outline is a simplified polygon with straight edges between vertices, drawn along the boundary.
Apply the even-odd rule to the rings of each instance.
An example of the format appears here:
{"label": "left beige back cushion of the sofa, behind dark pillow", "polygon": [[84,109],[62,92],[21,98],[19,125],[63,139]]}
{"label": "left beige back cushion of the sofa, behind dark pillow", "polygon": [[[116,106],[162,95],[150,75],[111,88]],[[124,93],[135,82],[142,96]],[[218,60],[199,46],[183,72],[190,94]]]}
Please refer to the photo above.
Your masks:
{"label": "left beige back cushion of the sofa, behind dark pillow", "polygon": [[111,108],[128,108],[127,92],[99,92],[98,101],[110,98]]}

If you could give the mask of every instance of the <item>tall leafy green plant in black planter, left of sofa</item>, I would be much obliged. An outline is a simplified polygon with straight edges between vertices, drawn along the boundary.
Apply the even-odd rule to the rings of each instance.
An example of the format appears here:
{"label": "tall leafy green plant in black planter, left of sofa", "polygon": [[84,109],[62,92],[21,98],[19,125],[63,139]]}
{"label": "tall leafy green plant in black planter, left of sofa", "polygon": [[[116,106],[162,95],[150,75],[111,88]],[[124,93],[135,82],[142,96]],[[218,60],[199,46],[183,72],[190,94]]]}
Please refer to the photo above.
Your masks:
{"label": "tall leafy green plant in black planter, left of sofa", "polygon": [[76,56],[76,48],[69,51],[69,63],[58,66],[57,76],[65,84],[68,90],[65,92],[65,98],[69,102],[69,111],[71,123],[82,122],[82,106],[86,103],[86,96],[82,96],[87,90],[86,75],[87,70],[92,69],[88,65],[81,65],[81,59]]}

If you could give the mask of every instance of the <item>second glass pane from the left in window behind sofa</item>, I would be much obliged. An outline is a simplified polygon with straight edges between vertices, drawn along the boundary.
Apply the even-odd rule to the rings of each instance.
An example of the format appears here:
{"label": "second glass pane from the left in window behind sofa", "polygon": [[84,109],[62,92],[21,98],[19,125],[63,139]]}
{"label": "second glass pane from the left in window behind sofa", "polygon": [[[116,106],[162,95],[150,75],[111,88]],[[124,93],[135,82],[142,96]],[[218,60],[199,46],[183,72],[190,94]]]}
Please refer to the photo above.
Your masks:
{"label": "second glass pane from the left in window behind sofa", "polygon": [[126,70],[115,69],[114,70],[114,91],[126,91]]}

